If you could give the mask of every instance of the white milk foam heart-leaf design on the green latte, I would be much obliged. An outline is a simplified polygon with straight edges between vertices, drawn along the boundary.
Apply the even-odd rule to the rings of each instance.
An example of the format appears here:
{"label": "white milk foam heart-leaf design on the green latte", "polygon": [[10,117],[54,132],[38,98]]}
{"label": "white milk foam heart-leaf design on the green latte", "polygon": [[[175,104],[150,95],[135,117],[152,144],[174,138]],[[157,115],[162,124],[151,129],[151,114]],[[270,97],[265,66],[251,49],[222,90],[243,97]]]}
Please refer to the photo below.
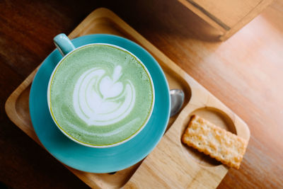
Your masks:
{"label": "white milk foam heart-leaf design on the green latte", "polygon": [[116,66],[112,76],[101,67],[85,71],[76,81],[74,110],[88,126],[111,125],[129,115],[136,93],[128,79],[119,81],[122,67]]}

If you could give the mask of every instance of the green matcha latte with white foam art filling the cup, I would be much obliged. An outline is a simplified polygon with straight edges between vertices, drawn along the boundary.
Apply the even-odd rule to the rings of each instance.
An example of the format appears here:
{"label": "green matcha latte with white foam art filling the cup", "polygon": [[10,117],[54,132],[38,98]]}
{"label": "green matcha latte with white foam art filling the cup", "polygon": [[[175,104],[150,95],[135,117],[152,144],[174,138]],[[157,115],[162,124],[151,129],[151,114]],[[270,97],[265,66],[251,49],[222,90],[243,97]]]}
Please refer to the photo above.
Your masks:
{"label": "green matcha latte with white foam art filling the cup", "polygon": [[64,57],[54,69],[47,95],[57,126],[91,146],[131,138],[154,105],[154,86],[139,59],[103,44],[86,45]]}

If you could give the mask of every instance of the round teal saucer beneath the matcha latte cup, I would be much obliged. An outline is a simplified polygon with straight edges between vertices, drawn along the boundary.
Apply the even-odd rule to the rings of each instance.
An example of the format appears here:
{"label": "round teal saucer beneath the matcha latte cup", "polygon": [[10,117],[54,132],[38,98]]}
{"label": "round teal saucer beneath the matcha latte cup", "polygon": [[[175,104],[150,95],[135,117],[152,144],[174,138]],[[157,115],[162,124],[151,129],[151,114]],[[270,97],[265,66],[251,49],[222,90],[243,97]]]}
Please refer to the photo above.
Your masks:
{"label": "round teal saucer beneath the matcha latte cup", "polygon": [[158,62],[136,43],[115,35],[85,35],[72,40],[75,47],[104,42],[129,50],[141,59],[154,81],[155,105],[151,118],[139,134],[116,147],[95,149],[73,142],[58,130],[47,105],[47,86],[56,64],[62,59],[54,50],[42,63],[30,89],[30,117],[33,128],[47,151],[63,164],[80,171],[109,173],[120,171],[144,159],[160,141],[169,120],[170,96],[166,77]]}

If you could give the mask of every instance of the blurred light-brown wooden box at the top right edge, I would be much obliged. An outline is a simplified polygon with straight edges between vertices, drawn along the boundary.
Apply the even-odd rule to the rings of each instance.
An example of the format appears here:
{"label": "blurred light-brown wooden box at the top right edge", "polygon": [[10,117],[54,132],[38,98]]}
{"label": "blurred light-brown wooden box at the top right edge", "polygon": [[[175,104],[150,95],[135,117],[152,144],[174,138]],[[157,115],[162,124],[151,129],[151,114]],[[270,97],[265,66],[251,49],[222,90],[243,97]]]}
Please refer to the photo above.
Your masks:
{"label": "blurred light-brown wooden box at the top right edge", "polygon": [[231,37],[258,16],[272,0],[178,0],[192,12],[221,30],[220,40]]}

